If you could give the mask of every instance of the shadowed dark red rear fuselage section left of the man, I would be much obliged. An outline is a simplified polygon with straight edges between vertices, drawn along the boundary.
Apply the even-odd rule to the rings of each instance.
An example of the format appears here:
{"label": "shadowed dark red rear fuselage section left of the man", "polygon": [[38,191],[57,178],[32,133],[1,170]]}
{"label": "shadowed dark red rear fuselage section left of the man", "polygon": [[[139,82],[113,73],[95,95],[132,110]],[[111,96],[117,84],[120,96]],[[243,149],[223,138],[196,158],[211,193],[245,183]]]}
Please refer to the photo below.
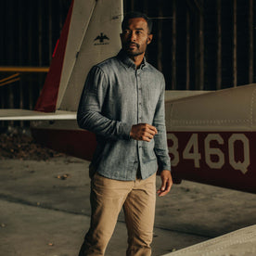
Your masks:
{"label": "shadowed dark red rear fuselage section left of the man", "polygon": [[46,147],[83,160],[92,160],[96,149],[96,135],[88,131],[32,128],[32,136]]}

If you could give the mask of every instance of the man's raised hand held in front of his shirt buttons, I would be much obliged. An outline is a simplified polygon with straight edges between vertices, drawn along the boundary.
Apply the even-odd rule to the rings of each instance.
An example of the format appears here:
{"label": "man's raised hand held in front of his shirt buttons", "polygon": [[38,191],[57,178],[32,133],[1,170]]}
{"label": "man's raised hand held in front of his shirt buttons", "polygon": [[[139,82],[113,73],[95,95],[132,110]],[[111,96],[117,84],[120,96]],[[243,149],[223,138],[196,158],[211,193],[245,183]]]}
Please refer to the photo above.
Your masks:
{"label": "man's raised hand held in front of his shirt buttons", "polygon": [[134,124],[130,132],[130,136],[133,139],[147,142],[149,142],[155,134],[158,134],[157,128],[148,123]]}

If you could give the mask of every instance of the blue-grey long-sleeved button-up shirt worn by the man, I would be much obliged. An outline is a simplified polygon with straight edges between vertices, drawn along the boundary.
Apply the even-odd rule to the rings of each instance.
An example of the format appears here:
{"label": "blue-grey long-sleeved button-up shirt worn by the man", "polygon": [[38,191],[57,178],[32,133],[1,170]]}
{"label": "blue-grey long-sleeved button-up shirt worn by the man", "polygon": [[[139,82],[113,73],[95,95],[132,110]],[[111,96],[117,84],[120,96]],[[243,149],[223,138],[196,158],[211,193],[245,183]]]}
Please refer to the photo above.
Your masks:
{"label": "blue-grey long-sleeved button-up shirt worn by the man", "polygon": [[[77,122],[96,134],[96,151],[90,168],[116,180],[142,179],[170,170],[164,117],[165,82],[159,70],[147,63],[136,70],[121,50],[88,73]],[[150,142],[130,137],[132,125],[154,125],[158,134]]]}

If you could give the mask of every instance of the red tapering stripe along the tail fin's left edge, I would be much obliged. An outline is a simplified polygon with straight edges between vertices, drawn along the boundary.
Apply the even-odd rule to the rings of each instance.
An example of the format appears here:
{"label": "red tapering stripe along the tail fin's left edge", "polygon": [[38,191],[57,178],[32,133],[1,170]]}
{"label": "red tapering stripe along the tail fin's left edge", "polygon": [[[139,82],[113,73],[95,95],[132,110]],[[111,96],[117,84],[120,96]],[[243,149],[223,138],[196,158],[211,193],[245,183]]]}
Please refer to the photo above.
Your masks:
{"label": "red tapering stripe along the tail fin's left edge", "polygon": [[36,102],[34,109],[37,111],[54,112],[56,110],[58,88],[68,41],[68,34],[70,30],[70,19],[73,3],[74,0],[71,3],[67,19],[60,34],[58,46],[55,49],[54,58],[52,58],[50,70],[47,73],[44,87]]}

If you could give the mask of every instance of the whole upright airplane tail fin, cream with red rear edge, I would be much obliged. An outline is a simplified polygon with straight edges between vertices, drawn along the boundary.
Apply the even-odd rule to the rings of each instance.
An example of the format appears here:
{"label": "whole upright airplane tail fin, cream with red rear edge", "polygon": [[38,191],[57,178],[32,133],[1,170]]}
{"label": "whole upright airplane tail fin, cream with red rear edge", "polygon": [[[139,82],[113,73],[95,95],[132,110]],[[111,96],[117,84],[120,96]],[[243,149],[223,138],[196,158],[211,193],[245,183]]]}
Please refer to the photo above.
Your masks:
{"label": "whole upright airplane tail fin, cream with red rear edge", "polygon": [[76,111],[91,67],[121,48],[122,0],[73,0],[35,110]]}

